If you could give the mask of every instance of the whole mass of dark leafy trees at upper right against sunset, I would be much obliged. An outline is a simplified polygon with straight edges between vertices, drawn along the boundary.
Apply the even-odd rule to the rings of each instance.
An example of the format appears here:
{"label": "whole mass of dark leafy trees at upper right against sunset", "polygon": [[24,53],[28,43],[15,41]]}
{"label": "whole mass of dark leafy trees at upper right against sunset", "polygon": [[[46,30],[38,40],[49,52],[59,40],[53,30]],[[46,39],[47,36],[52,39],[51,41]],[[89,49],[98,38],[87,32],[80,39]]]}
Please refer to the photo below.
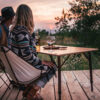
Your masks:
{"label": "whole mass of dark leafy trees at upper right against sunset", "polygon": [[[97,0],[76,0],[69,4],[70,10],[63,10],[62,16],[56,19],[59,29],[64,30],[58,33],[68,34],[83,46],[100,48],[100,4]],[[71,26],[69,21],[73,22]]]}

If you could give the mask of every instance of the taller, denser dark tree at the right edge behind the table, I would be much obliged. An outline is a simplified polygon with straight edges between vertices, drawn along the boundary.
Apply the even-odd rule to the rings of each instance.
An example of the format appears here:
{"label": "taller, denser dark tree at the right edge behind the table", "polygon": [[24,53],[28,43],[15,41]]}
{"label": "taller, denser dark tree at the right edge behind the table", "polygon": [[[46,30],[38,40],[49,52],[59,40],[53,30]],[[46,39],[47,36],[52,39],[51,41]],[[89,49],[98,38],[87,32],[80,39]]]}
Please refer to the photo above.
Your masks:
{"label": "taller, denser dark tree at the right edge behind the table", "polygon": [[[77,0],[71,3],[70,12],[75,15],[74,30],[77,32],[78,41],[84,45],[100,47],[97,45],[100,37],[100,5],[97,0]],[[74,19],[74,18],[72,18]]]}

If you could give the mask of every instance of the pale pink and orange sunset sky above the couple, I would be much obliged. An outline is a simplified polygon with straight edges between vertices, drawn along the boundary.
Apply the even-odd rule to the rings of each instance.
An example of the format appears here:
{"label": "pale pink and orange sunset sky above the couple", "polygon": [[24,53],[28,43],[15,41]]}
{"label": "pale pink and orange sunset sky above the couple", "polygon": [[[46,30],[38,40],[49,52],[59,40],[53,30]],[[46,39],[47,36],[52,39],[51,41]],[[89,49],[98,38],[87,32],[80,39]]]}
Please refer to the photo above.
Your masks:
{"label": "pale pink and orange sunset sky above the couple", "polygon": [[33,11],[35,29],[55,28],[55,17],[60,16],[62,9],[68,9],[67,0],[0,0],[0,10],[6,6],[16,8],[20,4],[27,4]]}

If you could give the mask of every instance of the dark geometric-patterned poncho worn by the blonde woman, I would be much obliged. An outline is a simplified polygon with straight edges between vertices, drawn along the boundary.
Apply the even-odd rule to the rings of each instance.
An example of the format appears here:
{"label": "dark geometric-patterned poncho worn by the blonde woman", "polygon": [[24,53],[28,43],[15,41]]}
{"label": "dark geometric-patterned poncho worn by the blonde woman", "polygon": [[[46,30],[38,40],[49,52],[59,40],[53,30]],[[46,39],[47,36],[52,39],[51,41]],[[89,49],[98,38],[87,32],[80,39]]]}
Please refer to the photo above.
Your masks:
{"label": "dark geometric-patterned poncho worn by the blonde woman", "polygon": [[10,33],[11,49],[22,59],[40,70],[46,70],[47,66],[42,65],[41,60],[37,57],[35,41],[30,36],[25,26],[16,26]]}

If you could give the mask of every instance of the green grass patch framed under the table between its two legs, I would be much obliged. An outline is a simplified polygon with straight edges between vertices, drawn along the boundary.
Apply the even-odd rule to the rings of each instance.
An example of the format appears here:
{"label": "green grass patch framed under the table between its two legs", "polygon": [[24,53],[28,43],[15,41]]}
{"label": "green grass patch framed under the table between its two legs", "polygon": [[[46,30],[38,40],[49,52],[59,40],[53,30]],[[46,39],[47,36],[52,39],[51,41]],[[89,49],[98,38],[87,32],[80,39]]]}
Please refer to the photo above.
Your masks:
{"label": "green grass patch framed under the table between its two legs", "polygon": [[[66,67],[67,66],[67,67]],[[62,70],[88,69],[88,61],[82,54],[71,55]]]}

